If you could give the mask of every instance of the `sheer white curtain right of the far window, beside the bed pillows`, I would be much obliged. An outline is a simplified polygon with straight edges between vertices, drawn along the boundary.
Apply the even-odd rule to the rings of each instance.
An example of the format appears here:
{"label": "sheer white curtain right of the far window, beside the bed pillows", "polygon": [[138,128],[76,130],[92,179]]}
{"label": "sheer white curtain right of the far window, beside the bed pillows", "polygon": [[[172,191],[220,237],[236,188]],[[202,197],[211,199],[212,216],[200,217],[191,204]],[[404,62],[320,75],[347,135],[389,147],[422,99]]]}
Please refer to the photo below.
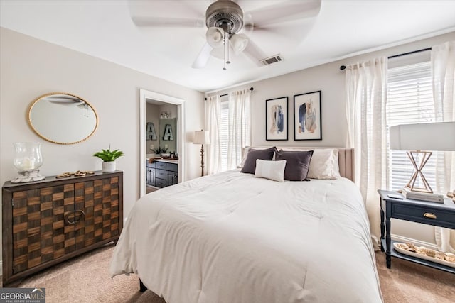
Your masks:
{"label": "sheer white curtain right of the far window, beside the bed pillows", "polygon": [[242,162],[242,148],[251,145],[249,89],[229,94],[228,170]]}

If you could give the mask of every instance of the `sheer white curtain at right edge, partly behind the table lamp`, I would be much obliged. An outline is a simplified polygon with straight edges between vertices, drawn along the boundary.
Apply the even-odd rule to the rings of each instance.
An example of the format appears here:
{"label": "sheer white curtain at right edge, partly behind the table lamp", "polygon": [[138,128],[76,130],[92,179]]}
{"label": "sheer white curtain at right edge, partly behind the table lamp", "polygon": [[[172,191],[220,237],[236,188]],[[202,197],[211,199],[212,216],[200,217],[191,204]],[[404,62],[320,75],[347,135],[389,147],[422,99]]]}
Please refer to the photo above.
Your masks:
{"label": "sheer white curtain at right edge, partly behind the table lamp", "polygon": [[[455,121],[455,41],[433,46],[431,60],[434,107],[438,113],[442,111],[443,121]],[[444,152],[443,161],[444,178],[437,182],[437,192],[455,189],[454,152]],[[454,230],[435,227],[434,233],[439,250],[455,253]]]}

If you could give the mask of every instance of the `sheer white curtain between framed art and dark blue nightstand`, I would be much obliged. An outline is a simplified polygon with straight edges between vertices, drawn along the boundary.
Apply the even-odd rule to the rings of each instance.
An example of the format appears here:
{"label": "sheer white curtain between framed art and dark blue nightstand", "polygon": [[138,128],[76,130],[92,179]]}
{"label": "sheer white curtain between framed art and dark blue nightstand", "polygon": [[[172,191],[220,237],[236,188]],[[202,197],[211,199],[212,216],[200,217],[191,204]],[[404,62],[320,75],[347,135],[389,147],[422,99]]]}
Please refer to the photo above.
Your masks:
{"label": "sheer white curtain between framed art and dark blue nightstand", "polygon": [[380,204],[377,191],[387,185],[386,96],[387,57],[348,66],[348,146],[355,148],[355,183],[358,184],[365,201],[375,249],[378,249],[380,241]]}

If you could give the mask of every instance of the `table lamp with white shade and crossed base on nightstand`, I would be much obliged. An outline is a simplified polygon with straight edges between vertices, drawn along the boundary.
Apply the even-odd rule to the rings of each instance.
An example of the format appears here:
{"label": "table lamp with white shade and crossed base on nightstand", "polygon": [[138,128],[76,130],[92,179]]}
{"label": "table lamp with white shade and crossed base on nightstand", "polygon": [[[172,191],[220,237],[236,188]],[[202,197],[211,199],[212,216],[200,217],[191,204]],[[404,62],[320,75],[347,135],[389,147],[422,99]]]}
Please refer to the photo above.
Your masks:
{"label": "table lamp with white shade and crossed base on nightstand", "polygon": [[[425,179],[422,169],[432,156],[430,150],[455,150],[455,121],[391,126],[390,149],[406,150],[414,166],[411,180],[406,187],[414,192],[432,194],[432,187]],[[417,158],[421,158],[419,163]],[[418,177],[422,180],[422,187],[415,184]]]}

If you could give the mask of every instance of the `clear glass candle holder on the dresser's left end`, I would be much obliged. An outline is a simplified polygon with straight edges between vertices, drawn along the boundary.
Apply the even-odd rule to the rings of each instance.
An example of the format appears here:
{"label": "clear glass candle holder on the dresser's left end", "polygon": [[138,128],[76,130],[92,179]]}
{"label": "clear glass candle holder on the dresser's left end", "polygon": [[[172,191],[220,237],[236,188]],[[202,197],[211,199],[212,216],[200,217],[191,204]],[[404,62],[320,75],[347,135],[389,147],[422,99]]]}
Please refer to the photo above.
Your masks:
{"label": "clear glass candle holder on the dresser's left end", "polygon": [[39,142],[14,143],[13,164],[18,170],[18,176],[11,180],[12,183],[34,182],[45,179],[39,173],[39,167],[43,165],[41,143]]}

